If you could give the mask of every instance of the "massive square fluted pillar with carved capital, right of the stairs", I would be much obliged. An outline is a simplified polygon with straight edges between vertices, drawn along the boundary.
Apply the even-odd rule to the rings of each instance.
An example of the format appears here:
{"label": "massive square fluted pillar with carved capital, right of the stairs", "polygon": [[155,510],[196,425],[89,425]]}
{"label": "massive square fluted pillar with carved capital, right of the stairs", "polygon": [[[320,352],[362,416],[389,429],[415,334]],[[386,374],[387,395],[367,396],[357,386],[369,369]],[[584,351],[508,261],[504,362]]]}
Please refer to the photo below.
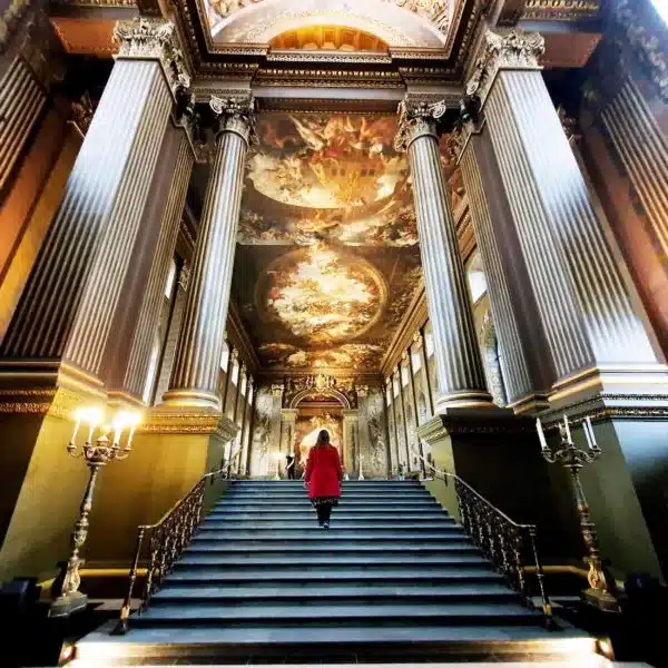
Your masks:
{"label": "massive square fluted pillar with carved capital, right of the stairs", "polygon": [[[479,149],[493,153],[499,181],[491,183],[493,170],[479,170],[482,190],[488,205],[499,196],[505,203],[495,225],[508,226],[517,240],[513,272],[517,276],[517,266],[524,272],[533,295],[534,322],[541,332],[538,337],[524,337],[525,352],[543,345],[538,354],[549,360],[552,381],[562,395],[591,386],[586,370],[600,379],[610,371],[608,377],[620,387],[626,381],[619,365],[626,366],[622,373],[629,379],[638,371],[651,374],[658,365],[625,285],[613,240],[597,215],[546,88],[538,65],[543,50],[543,39],[537,33],[485,33],[468,84],[468,92],[481,100],[484,126],[469,128],[470,141],[477,156],[482,155]],[[480,191],[480,185],[473,184],[474,171],[471,166],[464,169],[466,188]],[[471,205],[479,209],[474,214],[479,222],[488,215],[479,197]],[[505,275],[512,276],[508,271]],[[504,287],[493,276],[492,271],[493,316],[500,337],[505,337],[505,350],[512,353],[517,337],[503,324]],[[517,282],[512,289],[515,303],[527,292]],[[525,386],[522,364],[513,366],[513,383]]]}

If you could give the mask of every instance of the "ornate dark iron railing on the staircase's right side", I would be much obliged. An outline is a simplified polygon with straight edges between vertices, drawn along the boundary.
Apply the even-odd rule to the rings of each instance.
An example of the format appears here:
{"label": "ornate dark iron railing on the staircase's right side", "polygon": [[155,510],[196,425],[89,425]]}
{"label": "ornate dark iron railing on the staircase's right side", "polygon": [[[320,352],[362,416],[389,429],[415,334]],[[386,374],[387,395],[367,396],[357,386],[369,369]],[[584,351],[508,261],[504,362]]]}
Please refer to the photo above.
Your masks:
{"label": "ornate dark iron railing on the staircase's right side", "polygon": [[[419,456],[445,485],[449,484],[449,480],[454,481],[460,521],[465,533],[494,564],[494,568],[505,577],[509,584],[520,593],[523,601],[533,607],[527,586],[527,566],[524,563],[524,554],[527,551],[531,553],[536,562],[536,577],[540,589],[544,625],[550,629],[559,628],[553,619],[552,603],[544,586],[544,572],[536,543],[537,524],[515,522],[465,480],[450,471],[441,471],[424,456]],[[491,515],[495,515],[497,521],[492,521]]]}

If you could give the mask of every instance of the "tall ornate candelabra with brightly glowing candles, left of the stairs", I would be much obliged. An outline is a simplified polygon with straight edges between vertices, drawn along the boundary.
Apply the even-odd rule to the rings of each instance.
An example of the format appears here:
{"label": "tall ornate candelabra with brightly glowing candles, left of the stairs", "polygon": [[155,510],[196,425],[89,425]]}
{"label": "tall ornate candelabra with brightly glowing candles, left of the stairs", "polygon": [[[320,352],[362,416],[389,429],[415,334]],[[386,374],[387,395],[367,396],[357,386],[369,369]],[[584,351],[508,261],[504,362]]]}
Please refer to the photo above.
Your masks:
{"label": "tall ornate candelabra with brightly glowing candles, left of the stairs", "polygon": [[[119,411],[112,420],[110,426],[104,424],[104,412],[101,409],[81,409],[75,413],[75,431],[67,445],[67,452],[72,458],[84,458],[89,469],[88,484],[79,507],[79,519],[72,531],[70,546],[71,553],[65,562],[62,571],[56,579],[55,591],[60,590],[59,596],[51,602],[49,617],[69,617],[72,612],[82,610],[88,605],[88,597],[79,591],[81,576],[79,568],[84,560],[79,557],[81,548],[88,538],[90,527],[89,515],[92,509],[92,498],[95,484],[99,472],[104,466],[112,461],[121,461],[129,456],[132,449],[132,436],[135,429],[140,422],[140,415],[131,411]],[[77,448],[77,434],[81,423],[88,425],[88,436],[82,448]],[[96,430],[100,428],[100,434],[94,441]],[[125,446],[120,448],[122,434],[128,430]],[[114,432],[109,440],[109,433]]]}

